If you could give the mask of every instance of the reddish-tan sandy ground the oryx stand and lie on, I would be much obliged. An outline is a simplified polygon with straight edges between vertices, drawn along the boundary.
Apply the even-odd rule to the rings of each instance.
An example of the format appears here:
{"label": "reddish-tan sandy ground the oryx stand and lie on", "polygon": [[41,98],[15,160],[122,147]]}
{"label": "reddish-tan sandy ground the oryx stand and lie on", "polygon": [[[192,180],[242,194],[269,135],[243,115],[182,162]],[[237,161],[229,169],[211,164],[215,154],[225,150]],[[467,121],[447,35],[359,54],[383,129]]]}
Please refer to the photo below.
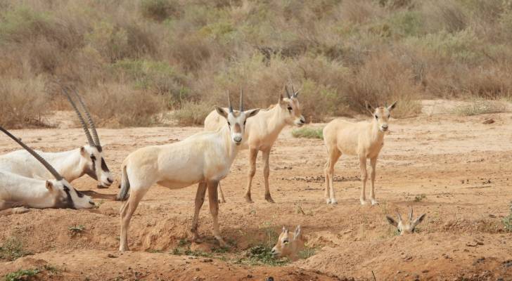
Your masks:
{"label": "reddish-tan sandy ground the oryx stand and lie on", "polygon": [[[437,103],[425,103],[425,107]],[[323,142],[293,138],[285,129],[271,152],[271,192],[264,201],[260,156],[252,188],[254,204],[243,200],[247,151],[241,152],[222,182],[222,235],[233,247],[222,259],[174,255],[191,237],[196,186],[168,190],[154,186],[132,219],[129,245],[117,252],[120,202],[112,200],[117,181],[98,190],[91,178],[73,182],[91,190],[99,209],[32,209],[0,217],[0,244],[12,237],[34,253],[0,260],[0,277],[20,268],[46,270],[37,280],[512,280],[512,238],[502,218],[512,200],[512,114],[461,117],[423,110],[419,117],[393,119],[378,160],[378,206],[359,204],[359,164],[342,157],[336,165],[338,205],[324,201]],[[361,117],[364,118],[364,117]],[[361,119],[359,118],[359,119]],[[482,124],[494,119],[493,124]],[[312,124],[309,126],[323,126]],[[178,141],[200,128],[100,129],[105,158],[115,177],[129,152],[146,145]],[[85,142],[80,129],[13,131],[33,148],[61,151]],[[0,152],[17,150],[0,137]],[[418,199],[415,199],[418,197]],[[193,249],[216,247],[207,201],[200,234],[209,241]],[[409,206],[425,221],[414,235],[395,235],[385,220]],[[304,214],[297,214],[302,209]],[[316,254],[284,267],[248,266],[237,256],[268,239],[269,229],[300,224]],[[68,228],[84,226],[71,235]]]}

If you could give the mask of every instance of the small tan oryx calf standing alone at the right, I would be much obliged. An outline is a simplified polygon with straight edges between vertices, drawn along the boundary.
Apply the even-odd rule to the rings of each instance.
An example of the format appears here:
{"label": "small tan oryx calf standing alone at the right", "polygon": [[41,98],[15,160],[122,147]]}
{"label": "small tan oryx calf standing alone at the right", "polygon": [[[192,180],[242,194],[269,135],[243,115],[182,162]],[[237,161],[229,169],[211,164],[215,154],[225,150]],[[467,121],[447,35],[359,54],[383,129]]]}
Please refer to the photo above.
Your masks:
{"label": "small tan oryx calf standing alone at the right", "polygon": [[334,119],[324,128],[324,143],[327,147],[327,162],[324,170],[326,178],[326,202],[327,204],[336,204],[334,196],[333,176],[334,165],[342,154],[359,156],[359,166],[361,167],[361,204],[366,204],[366,159],[370,159],[371,164],[371,204],[378,204],[375,200],[375,168],[380,149],[384,145],[384,134],[388,131],[388,120],[390,112],[397,103],[389,107],[377,107],[373,109],[366,103],[366,109],[371,112],[373,119],[371,122],[347,122],[340,119]]}

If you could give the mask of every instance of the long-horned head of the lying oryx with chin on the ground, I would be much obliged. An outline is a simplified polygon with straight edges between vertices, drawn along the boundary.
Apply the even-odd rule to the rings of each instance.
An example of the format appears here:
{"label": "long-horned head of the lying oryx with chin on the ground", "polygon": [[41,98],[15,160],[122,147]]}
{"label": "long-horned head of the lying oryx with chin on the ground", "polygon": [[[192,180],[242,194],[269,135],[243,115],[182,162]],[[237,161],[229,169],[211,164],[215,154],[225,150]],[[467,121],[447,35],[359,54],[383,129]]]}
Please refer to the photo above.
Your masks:
{"label": "long-horned head of the lying oryx with chin on the ground", "polygon": [[34,156],[48,171],[55,177],[55,180],[46,181],[46,190],[48,195],[53,200],[53,208],[63,209],[90,209],[95,207],[91,197],[84,195],[82,192],[75,190],[75,188],[66,181],[63,176],[60,176],[56,169],[53,169],[43,157],[37,152],[29,148],[25,143],[20,141],[18,138],[9,133],[6,129],[0,126],[0,131],[6,133],[7,136],[12,138],[16,143],[21,145],[27,152]]}

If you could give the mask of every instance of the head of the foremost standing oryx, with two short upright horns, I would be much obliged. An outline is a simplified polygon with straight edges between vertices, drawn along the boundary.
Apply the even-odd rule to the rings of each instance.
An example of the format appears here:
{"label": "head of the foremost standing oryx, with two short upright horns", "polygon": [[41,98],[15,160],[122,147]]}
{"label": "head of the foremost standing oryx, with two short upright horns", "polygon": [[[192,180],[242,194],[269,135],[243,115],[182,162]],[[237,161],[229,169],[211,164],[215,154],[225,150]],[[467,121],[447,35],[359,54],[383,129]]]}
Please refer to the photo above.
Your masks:
{"label": "head of the foremost standing oryx, with two short upright horns", "polygon": [[229,126],[229,131],[231,133],[231,140],[233,141],[233,143],[235,143],[236,145],[241,145],[243,141],[243,135],[245,133],[245,120],[257,115],[257,113],[260,112],[260,109],[257,108],[254,110],[243,111],[242,89],[240,89],[240,110],[233,110],[233,107],[231,106],[231,100],[229,98],[229,92],[228,104],[229,112],[226,112],[224,108],[218,106],[215,106],[215,110],[217,110],[217,113],[219,113],[219,115],[226,118]]}

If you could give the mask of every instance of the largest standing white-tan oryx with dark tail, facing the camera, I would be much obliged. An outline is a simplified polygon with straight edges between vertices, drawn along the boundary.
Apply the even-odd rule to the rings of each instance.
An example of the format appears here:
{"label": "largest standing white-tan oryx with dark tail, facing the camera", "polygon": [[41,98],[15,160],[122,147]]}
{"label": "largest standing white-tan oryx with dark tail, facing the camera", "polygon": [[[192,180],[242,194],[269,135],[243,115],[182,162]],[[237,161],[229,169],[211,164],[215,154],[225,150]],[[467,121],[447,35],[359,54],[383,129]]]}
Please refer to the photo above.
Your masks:
{"label": "largest standing white-tan oryx with dark tail, facing the camera", "polygon": [[[243,111],[243,94],[240,96],[240,111],[234,112],[229,101],[229,112],[215,107],[227,124],[215,132],[201,132],[183,141],[168,145],[155,145],[132,152],[122,162],[121,190],[117,200],[128,200],[122,204],[120,251],[128,249],[127,231],[129,221],[142,197],[151,185],[158,183],[166,188],[186,188],[198,184],[196,208],[192,228],[193,240],[198,240],[198,215],[208,189],[210,213],[213,217],[213,234],[219,244],[225,246],[219,231],[217,184],[229,173],[229,168],[240,150],[245,130],[245,119],[255,116],[259,109]],[[128,191],[130,194],[128,195]]]}

